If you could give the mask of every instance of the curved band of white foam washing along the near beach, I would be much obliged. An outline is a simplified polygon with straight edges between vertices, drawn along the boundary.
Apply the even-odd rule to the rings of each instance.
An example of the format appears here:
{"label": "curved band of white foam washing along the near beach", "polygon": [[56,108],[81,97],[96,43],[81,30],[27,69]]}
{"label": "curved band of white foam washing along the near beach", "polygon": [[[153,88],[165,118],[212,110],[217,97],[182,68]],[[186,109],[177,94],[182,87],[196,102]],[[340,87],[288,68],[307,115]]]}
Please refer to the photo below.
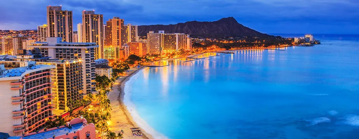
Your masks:
{"label": "curved band of white foam washing along the near beach", "polygon": [[[136,105],[132,103],[130,96],[132,93],[132,90],[130,86],[134,83],[134,81],[139,77],[140,72],[136,73],[135,75],[131,76],[128,81],[125,83],[125,88],[123,88],[123,91],[125,92],[125,95],[123,96],[123,103],[127,106],[127,110],[130,111],[132,119],[136,122],[138,126],[140,126],[142,129],[144,129],[148,134],[152,135],[155,139],[168,139],[167,136],[163,135],[162,133],[159,133],[155,129],[153,129],[144,119],[141,118],[139,113],[136,111]],[[131,110],[132,109],[132,110]]]}

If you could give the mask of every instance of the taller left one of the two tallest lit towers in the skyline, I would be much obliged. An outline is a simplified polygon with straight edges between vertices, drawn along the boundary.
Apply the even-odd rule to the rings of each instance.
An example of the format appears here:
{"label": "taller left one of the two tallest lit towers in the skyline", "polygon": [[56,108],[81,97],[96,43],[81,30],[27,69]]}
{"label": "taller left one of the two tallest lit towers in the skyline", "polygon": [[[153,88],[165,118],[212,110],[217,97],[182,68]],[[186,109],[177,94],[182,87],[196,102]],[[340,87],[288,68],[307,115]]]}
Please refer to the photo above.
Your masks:
{"label": "taller left one of the two tallest lit towers in the skyline", "polygon": [[72,11],[62,10],[61,6],[47,6],[47,37],[73,42],[72,16]]}

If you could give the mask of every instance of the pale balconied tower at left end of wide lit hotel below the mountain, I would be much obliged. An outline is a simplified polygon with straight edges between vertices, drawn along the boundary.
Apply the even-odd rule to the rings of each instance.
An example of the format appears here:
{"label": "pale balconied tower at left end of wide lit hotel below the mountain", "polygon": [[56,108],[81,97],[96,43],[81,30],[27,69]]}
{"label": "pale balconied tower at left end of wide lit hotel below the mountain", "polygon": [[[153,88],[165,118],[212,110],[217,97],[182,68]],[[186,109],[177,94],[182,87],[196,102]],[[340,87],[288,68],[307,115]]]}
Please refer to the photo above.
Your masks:
{"label": "pale balconied tower at left end of wide lit hotel below the mountain", "polygon": [[149,54],[160,54],[162,38],[162,33],[154,33],[154,31],[147,33],[147,50]]}

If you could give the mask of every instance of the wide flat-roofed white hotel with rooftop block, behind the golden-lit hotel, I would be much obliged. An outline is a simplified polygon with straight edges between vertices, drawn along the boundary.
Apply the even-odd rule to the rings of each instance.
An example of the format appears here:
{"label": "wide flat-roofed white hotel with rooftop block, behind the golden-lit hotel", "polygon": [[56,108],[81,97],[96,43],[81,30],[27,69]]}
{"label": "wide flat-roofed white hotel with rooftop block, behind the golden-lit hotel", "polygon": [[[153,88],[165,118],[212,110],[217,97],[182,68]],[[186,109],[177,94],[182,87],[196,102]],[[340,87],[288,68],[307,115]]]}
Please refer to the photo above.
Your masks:
{"label": "wide flat-roofed white hotel with rooftop block, behind the golden-lit hotel", "polygon": [[84,93],[95,90],[95,55],[96,43],[67,43],[61,38],[47,38],[46,43],[33,43],[33,48],[39,48],[43,57],[52,57],[59,60],[82,61],[82,74],[84,80]]}

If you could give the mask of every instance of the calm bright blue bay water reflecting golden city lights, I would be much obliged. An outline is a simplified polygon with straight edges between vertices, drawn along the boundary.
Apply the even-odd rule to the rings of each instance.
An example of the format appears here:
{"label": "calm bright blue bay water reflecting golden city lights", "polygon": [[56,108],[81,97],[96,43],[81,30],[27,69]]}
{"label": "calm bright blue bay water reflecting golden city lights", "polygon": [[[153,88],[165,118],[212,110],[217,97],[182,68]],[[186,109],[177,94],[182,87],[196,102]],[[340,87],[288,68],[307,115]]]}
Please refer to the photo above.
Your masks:
{"label": "calm bright blue bay water reflecting golden city lights", "polygon": [[164,61],[132,76],[125,104],[155,138],[358,139],[359,36],[314,37],[322,45]]}

